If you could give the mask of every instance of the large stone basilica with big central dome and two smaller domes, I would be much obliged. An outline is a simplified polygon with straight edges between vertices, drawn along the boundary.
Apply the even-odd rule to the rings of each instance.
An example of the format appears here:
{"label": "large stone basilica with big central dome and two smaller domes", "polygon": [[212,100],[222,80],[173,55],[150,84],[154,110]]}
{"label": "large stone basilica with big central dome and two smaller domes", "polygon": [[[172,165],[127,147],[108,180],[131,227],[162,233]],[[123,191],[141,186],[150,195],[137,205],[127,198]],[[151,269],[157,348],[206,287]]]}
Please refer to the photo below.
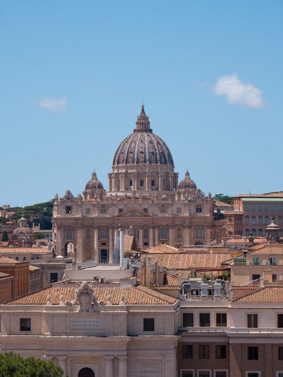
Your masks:
{"label": "large stone basilica with big central dome and two smaller domes", "polygon": [[55,196],[53,240],[57,255],[112,263],[119,229],[136,236],[139,249],[213,240],[213,204],[190,178],[178,182],[172,154],[150,128],[142,105],[136,128],[119,145],[108,174],[109,190],[93,171],[82,195]]}

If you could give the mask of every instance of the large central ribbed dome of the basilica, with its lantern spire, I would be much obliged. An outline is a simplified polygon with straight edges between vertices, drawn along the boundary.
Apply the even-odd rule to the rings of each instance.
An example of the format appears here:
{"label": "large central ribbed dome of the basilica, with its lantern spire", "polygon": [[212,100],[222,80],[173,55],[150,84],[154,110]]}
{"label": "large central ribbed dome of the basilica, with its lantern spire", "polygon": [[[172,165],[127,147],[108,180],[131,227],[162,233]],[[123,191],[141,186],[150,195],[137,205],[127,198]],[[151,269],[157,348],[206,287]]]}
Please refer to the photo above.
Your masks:
{"label": "large central ribbed dome of the basilica, with its lantern spire", "polygon": [[136,129],[118,147],[113,165],[144,163],[174,165],[169,148],[150,129],[150,122],[142,105],[140,116],[137,117]]}

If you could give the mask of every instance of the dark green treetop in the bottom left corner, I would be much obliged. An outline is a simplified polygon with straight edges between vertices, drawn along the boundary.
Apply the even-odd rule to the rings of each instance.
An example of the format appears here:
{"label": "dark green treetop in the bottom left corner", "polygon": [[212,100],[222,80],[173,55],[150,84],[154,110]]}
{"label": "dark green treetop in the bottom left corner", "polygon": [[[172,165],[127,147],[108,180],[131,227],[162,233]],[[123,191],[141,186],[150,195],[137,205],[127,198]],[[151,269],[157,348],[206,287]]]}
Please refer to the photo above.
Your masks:
{"label": "dark green treetop in the bottom left corner", "polygon": [[1,377],[63,377],[63,370],[52,361],[24,358],[13,352],[0,354]]}

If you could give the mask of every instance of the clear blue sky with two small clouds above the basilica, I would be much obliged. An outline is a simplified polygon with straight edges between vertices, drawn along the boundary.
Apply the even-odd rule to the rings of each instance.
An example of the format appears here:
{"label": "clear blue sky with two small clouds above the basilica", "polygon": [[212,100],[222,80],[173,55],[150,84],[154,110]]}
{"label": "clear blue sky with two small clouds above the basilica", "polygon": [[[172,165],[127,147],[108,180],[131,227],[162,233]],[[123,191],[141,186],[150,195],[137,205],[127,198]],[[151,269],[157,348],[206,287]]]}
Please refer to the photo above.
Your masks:
{"label": "clear blue sky with two small clouds above the basilica", "polygon": [[84,190],[144,100],[213,195],[283,190],[283,2],[2,1],[0,206]]}

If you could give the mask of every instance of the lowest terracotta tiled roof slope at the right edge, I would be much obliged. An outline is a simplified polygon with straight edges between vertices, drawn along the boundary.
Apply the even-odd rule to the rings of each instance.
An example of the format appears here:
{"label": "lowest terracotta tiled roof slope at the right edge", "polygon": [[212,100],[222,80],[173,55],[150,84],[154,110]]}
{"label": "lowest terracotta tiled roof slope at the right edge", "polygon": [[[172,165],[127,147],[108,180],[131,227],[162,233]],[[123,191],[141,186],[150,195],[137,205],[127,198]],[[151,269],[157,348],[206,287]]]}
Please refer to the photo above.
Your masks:
{"label": "lowest terracotta tiled roof slope at the right edge", "polygon": [[283,303],[283,286],[265,286],[238,297],[236,303]]}

